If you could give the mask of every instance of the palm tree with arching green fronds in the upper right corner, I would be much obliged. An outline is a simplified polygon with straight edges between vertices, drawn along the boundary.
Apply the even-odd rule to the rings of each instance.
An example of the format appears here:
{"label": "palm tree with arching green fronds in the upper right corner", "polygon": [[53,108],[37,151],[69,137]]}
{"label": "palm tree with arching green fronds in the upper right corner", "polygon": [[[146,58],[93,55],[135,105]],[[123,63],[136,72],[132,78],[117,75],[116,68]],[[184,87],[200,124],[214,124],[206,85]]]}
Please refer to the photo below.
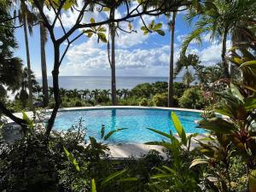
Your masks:
{"label": "palm tree with arching green fronds in the upper right corner", "polygon": [[[189,23],[199,17],[195,23],[195,30],[189,34],[182,45],[182,55],[185,55],[186,49],[193,40],[201,43],[201,35],[210,34],[211,40],[220,39],[222,44],[221,59],[224,68],[224,77],[230,79],[229,63],[225,59],[226,44],[229,36],[234,38],[236,31],[241,31],[244,28],[246,20],[251,20],[251,15],[254,14],[253,0],[237,0],[223,1],[214,0],[211,6],[207,3],[202,7],[200,14],[197,14],[195,9],[190,9],[186,19]],[[255,15],[253,15],[255,16]]]}

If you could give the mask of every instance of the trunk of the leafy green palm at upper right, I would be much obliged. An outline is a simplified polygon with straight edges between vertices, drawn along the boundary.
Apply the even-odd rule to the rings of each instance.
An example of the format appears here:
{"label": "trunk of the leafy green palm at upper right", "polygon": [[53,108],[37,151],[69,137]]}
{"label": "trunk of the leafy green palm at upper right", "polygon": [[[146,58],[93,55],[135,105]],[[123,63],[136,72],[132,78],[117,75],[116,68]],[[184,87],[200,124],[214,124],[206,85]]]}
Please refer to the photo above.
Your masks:
{"label": "trunk of the leafy green palm at upper right", "polygon": [[227,50],[227,36],[228,36],[228,31],[225,29],[224,34],[222,37],[222,51],[221,51],[221,60],[222,60],[222,65],[224,67],[224,78],[230,79],[230,72],[229,72],[229,63],[226,61],[225,55],[226,55],[226,50]]}

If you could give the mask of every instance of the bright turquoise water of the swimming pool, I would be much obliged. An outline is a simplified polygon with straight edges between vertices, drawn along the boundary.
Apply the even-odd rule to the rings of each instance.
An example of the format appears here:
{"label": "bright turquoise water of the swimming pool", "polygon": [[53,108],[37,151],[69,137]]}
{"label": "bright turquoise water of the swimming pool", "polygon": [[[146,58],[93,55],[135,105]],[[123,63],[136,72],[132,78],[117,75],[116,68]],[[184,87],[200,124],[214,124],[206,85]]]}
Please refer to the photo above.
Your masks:
{"label": "bright turquoise water of the swimming pool", "polygon": [[[196,128],[195,120],[201,119],[201,114],[188,111],[175,111],[187,133],[203,133]],[[160,135],[147,130],[154,128],[168,133],[176,132],[172,124],[171,110],[151,108],[104,108],[85,109],[59,112],[55,119],[55,130],[67,130],[72,125],[78,124],[79,119],[84,120],[87,136],[101,140],[102,124],[106,132],[118,128],[128,128],[116,132],[110,137],[108,143],[146,143],[165,139]]]}

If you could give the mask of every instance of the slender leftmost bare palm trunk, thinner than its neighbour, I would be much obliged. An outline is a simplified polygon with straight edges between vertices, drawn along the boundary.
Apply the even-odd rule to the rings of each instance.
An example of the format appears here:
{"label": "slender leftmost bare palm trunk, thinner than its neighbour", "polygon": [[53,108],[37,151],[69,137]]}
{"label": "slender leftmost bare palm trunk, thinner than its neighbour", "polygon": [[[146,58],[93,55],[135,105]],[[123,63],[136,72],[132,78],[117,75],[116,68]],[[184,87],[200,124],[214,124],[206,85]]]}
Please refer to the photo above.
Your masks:
{"label": "slender leftmost bare palm trunk, thinner than its neighbour", "polygon": [[31,80],[31,65],[30,65],[30,54],[29,54],[29,46],[27,40],[27,29],[26,29],[26,15],[23,15],[24,20],[24,35],[25,35],[25,44],[26,44],[26,62],[27,62],[27,80],[28,80],[28,104],[30,110],[33,108],[32,104],[32,80]]}

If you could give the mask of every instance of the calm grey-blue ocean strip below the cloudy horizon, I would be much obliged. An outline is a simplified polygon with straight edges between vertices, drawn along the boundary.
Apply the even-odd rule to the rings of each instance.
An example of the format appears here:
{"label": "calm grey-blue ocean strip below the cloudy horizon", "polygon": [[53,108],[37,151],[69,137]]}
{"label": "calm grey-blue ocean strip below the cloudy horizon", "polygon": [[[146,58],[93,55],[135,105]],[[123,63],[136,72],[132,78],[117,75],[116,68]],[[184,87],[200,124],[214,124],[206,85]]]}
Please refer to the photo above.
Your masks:
{"label": "calm grey-blue ocean strip below the cloudy horizon", "polygon": [[[42,84],[42,79],[37,79],[39,84]],[[137,84],[154,83],[156,81],[168,81],[167,77],[117,77],[117,89],[131,90]],[[180,82],[182,78],[177,78],[175,81]],[[52,86],[52,79],[48,79],[49,87]],[[111,77],[104,76],[60,76],[60,87],[67,90],[110,90]]]}

